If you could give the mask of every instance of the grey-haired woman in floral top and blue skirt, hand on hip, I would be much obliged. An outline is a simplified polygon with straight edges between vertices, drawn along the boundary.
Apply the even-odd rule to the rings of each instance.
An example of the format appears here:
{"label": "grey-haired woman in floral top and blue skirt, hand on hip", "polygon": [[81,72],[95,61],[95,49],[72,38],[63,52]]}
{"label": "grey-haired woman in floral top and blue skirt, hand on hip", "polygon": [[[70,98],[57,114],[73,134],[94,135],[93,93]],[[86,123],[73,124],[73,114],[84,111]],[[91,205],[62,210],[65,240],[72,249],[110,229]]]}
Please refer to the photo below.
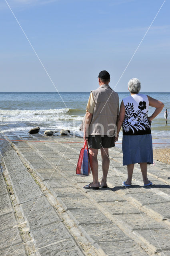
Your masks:
{"label": "grey-haired woman in floral top and blue skirt, hand on hip", "polygon": [[[144,186],[152,185],[147,177],[147,164],[153,164],[151,122],[161,112],[164,104],[148,95],[139,94],[140,81],[132,78],[128,82],[130,96],[124,98],[120,105],[117,122],[117,137],[122,126],[123,130],[123,165],[127,165],[128,178],[123,186],[131,186],[134,164],[139,163]],[[148,107],[155,109],[148,117]]]}

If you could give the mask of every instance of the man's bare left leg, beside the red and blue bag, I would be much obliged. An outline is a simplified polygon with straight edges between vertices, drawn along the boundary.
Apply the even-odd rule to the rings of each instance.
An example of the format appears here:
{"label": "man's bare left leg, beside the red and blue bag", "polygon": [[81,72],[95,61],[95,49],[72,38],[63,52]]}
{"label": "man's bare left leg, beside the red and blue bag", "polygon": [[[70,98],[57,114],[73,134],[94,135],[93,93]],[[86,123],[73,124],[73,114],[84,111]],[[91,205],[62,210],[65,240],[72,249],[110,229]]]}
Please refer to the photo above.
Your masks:
{"label": "man's bare left leg, beside the red and blue bag", "polygon": [[90,160],[90,167],[92,170],[93,175],[93,182],[90,183],[90,186],[92,187],[99,187],[98,184],[98,149],[96,148],[89,148],[89,160]]}

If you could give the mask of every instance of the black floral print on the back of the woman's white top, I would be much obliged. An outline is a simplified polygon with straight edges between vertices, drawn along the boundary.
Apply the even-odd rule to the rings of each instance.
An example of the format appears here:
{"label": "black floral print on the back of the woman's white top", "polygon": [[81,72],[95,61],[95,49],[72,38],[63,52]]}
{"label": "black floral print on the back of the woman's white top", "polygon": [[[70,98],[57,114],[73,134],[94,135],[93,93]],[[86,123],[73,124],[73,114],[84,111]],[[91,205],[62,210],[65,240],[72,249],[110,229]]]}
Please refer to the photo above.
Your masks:
{"label": "black floral print on the back of the woman's white top", "polygon": [[146,102],[140,101],[139,110],[134,110],[134,105],[132,103],[127,103],[125,105],[125,118],[123,122],[123,131],[128,133],[132,131],[133,134],[140,131],[145,131],[150,129],[150,122],[148,120],[148,111],[143,112],[142,110],[146,109]]}

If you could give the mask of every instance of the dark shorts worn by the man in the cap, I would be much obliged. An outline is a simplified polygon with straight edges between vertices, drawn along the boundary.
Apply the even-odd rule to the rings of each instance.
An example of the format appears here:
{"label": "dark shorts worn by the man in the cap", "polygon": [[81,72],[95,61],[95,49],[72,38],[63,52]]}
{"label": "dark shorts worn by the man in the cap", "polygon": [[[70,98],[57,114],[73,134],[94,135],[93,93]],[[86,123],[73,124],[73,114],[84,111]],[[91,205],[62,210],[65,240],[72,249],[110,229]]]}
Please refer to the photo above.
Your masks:
{"label": "dark shorts worn by the man in the cap", "polygon": [[109,137],[107,135],[89,135],[88,136],[88,145],[89,148],[112,148],[114,144],[115,137]]}

